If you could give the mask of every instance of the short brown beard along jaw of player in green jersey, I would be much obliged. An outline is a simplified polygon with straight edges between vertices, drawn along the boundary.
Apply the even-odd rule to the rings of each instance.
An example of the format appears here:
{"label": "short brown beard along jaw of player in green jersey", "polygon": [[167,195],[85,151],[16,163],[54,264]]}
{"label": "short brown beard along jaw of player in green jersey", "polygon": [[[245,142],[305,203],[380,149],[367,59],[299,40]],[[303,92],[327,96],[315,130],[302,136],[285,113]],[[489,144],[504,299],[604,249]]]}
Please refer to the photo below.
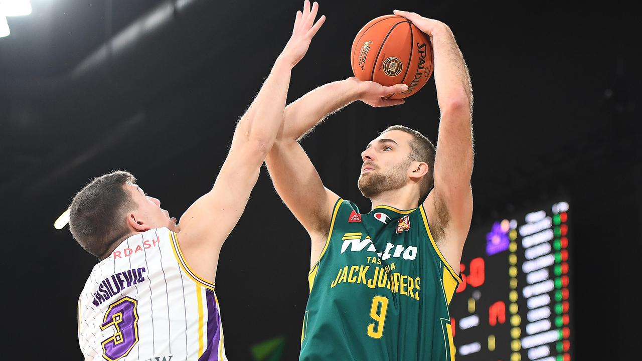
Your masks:
{"label": "short brown beard along jaw of player in green jersey", "polygon": [[386,191],[399,189],[408,182],[408,166],[410,160],[396,164],[388,170],[377,168],[367,173],[362,173],[359,177],[359,190],[363,197],[374,198]]}

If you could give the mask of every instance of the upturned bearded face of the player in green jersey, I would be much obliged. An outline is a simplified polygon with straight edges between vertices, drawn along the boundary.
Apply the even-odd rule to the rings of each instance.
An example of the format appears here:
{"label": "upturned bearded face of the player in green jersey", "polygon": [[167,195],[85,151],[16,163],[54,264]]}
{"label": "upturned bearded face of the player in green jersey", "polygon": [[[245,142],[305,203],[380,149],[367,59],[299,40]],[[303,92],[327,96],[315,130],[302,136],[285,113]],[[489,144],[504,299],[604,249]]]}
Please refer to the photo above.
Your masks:
{"label": "upturned bearded face of the player in green jersey", "polygon": [[358,186],[365,197],[403,187],[408,181],[412,136],[401,130],[382,133],[361,152],[363,165]]}

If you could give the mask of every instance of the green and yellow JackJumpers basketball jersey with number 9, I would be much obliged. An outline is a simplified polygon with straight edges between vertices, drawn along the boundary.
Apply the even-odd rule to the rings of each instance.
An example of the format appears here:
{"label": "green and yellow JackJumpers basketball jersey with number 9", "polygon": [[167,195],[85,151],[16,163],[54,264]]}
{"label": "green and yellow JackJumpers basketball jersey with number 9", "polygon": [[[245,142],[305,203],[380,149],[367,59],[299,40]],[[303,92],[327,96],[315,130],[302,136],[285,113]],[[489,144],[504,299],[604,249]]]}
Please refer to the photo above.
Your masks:
{"label": "green and yellow JackJumpers basketball jersey with number 9", "polygon": [[299,359],[454,360],[448,304],[460,282],[423,206],[361,215],[339,199],[309,274]]}

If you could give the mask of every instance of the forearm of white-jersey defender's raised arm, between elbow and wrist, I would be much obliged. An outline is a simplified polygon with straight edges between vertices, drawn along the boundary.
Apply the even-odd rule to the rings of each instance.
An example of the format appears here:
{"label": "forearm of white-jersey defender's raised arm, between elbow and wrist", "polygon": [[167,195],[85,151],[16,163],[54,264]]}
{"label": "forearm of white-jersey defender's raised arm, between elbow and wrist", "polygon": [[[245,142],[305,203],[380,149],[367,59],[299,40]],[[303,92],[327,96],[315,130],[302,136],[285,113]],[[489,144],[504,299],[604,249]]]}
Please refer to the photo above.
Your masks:
{"label": "forearm of white-jersey defender's raised arm, between elbow and wrist", "polygon": [[236,127],[236,143],[250,142],[265,154],[270,151],[283,121],[291,70],[290,61],[277,58],[270,75]]}

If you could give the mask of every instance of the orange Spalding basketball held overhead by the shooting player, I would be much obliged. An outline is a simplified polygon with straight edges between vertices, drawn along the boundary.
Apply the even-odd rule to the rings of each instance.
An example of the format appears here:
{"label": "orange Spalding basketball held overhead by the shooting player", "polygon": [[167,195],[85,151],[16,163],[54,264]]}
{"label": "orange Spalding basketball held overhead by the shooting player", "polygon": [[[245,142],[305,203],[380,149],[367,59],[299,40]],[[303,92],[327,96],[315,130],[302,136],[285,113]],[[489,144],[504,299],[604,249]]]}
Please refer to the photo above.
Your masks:
{"label": "orange Spalding basketball held overhead by the shooting player", "polygon": [[397,15],[383,15],[365,24],[352,42],[350,58],[352,73],[359,80],[408,85],[408,91],[391,99],[415,94],[433,74],[428,35]]}

